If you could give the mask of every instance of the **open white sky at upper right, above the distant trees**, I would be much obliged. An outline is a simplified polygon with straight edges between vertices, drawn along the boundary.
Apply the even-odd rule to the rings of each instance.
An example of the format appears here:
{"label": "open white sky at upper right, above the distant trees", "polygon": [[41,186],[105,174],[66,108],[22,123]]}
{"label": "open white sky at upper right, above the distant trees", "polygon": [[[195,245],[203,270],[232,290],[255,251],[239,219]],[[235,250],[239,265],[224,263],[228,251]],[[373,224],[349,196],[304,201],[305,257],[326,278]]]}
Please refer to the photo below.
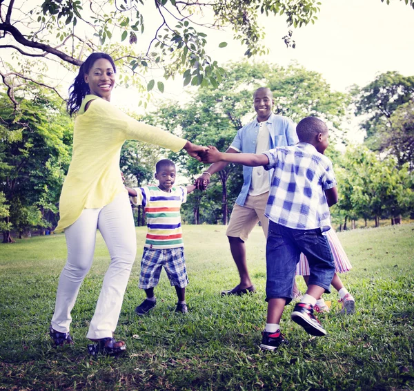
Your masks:
{"label": "open white sky at upper right, above the distant trees", "polygon": [[[404,0],[321,0],[321,12],[314,25],[294,30],[296,48],[286,48],[282,37],[287,28],[284,17],[263,17],[266,46],[270,55],[252,61],[269,61],[286,66],[297,61],[308,70],[321,73],[333,90],[343,91],[357,84],[365,86],[377,75],[397,70],[404,76],[414,75],[414,10]],[[208,32],[209,53],[222,64],[242,59],[246,48],[232,41],[230,32]],[[218,48],[227,41],[226,48]],[[167,84],[162,99],[186,99],[181,77]],[[131,100],[119,90],[115,102]],[[135,99],[132,99],[134,101]],[[128,102],[128,103],[127,103]],[[353,140],[362,141],[357,124],[351,124]]]}

